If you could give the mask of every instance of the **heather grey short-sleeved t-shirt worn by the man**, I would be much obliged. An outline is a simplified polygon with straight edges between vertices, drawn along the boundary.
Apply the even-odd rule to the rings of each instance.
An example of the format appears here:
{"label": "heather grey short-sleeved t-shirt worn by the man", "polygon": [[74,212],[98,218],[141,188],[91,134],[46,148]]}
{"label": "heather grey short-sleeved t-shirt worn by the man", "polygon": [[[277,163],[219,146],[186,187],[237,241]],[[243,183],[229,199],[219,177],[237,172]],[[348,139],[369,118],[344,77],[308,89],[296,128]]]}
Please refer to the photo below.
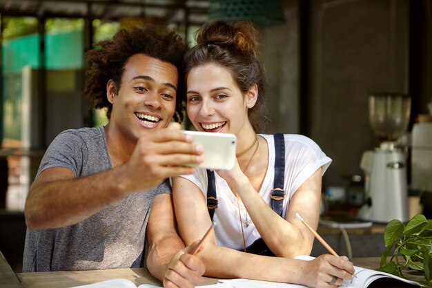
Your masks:
{"label": "heather grey short-sleeved t-shirt worn by the man", "polygon": [[[104,127],[60,133],[43,155],[38,175],[52,167],[70,169],[77,177],[111,169]],[[168,181],[132,194],[77,224],[27,229],[23,272],[140,267],[150,206],[161,193],[171,193]]]}

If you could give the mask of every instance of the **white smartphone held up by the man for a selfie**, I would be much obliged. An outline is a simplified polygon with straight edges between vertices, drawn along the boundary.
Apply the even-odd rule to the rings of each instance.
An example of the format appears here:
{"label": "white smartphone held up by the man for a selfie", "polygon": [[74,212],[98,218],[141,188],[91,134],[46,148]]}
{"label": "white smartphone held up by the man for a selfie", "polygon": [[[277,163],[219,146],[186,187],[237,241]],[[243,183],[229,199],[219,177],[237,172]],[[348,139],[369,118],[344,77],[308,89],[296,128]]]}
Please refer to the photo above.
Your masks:
{"label": "white smartphone held up by the man for a selfie", "polygon": [[204,146],[204,162],[190,164],[205,169],[232,169],[235,163],[237,137],[234,134],[181,131],[193,136],[193,142]]}

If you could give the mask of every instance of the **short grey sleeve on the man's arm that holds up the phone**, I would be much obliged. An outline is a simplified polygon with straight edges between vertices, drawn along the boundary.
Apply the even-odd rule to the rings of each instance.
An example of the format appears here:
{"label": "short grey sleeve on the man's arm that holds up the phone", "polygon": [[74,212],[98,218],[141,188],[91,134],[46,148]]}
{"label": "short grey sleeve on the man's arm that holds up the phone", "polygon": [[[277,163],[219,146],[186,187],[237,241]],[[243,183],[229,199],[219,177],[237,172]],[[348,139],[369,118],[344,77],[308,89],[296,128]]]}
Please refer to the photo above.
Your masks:
{"label": "short grey sleeve on the man's arm that holds up the phone", "polygon": [[72,131],[63,131],[51,142],[42,157],[37,174],[52,167],[67,168],[75,176],[80,175],[84,157],[88,149],[83,139]]}

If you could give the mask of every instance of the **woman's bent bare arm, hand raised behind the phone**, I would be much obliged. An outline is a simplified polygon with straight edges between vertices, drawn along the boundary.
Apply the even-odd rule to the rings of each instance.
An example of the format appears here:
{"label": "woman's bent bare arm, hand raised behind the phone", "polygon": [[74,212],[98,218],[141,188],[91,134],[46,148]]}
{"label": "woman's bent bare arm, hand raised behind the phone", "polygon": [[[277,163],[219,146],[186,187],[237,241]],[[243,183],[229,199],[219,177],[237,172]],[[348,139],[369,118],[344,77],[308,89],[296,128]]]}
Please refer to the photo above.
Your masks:
{"label": "woman's bent bare arm, hand raised behind the phone", "polygon": [[238,193],[257,231],[276,256],[292,258],[311,253],[313,235],[295,218],[295,213],[300,213],[312,227],[317,227],[320,217],[322,168],[315,171],[297,189],[290,200],[285,219],[277,215],[261,198],[238,165],[232,171],[220,171],[219,175],[224,177],[234,193]]}

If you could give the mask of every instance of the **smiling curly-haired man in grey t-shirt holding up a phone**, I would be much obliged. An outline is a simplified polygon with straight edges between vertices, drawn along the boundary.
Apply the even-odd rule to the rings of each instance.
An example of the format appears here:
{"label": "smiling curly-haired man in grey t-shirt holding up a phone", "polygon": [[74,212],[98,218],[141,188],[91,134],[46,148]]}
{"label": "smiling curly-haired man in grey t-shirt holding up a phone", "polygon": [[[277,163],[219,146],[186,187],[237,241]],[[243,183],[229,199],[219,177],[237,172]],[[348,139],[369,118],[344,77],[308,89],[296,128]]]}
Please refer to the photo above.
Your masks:
{"label": "smiling curly-haired man in grey t-shirt holding up a phone", "polygon": [[26,201],[23,271],[140,267],[146,237],[150,272],[165,287],[194,287],[204,265],[177,234],[166,180],[202,161],[179,125],[167,128],[183,117],[187,44],[148,27],[100,46],[86,55],[84,94],[109,122],[63,131],[47,149]]}

